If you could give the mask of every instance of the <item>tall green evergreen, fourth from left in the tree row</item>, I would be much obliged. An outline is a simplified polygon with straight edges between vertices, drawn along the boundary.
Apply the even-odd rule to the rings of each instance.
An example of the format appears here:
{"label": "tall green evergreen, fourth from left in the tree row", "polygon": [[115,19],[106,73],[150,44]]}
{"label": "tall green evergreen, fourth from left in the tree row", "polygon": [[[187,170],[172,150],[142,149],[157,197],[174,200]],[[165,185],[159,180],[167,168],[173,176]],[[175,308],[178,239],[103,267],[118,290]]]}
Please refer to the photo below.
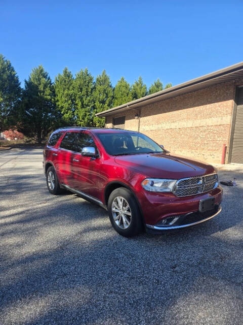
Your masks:
{"label": "tall green evergreen, fourth from left in the tree row", "polygon": [[88,69],[80,70],[74,80],[76,124],[92,126],[94,110],[94,78]]}

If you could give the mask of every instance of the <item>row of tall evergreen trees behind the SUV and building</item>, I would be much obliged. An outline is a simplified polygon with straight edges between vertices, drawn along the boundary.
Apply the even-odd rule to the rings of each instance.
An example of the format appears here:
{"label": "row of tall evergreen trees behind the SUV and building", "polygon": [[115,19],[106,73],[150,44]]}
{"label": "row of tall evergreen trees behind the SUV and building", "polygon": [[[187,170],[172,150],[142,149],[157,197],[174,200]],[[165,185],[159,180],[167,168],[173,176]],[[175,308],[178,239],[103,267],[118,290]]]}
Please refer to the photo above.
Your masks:
{"label": "row of tall evergreen trees behind the SUV and building", "polygon": [[157,79],[147,88],[142,77],[130,85],[121,77],[113,87],[105,70],[94,78],[87,68],[75,77],[65,68],[52,82],[40,65],[32,69],[21,88],[11,62],[0,54],[0,132],[15,128],[42,143],[60,126],[103,127],[105,121],[96,113],[171,86],[163,88]]}

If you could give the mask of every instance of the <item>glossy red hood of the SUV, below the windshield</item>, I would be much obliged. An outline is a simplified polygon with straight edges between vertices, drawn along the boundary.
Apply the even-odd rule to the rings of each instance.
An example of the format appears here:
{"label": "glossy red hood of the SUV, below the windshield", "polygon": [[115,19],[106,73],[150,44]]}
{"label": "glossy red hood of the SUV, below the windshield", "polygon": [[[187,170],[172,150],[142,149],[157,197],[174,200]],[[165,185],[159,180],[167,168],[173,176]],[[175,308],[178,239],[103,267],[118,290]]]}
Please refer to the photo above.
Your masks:
{"label": "glossy red hood of the SUV, below the windshield", "polygon": [[180,179],[207,175],[217,170],[201,161],[171,153],[150,153],[116,156],[115,162],[145,177]]}

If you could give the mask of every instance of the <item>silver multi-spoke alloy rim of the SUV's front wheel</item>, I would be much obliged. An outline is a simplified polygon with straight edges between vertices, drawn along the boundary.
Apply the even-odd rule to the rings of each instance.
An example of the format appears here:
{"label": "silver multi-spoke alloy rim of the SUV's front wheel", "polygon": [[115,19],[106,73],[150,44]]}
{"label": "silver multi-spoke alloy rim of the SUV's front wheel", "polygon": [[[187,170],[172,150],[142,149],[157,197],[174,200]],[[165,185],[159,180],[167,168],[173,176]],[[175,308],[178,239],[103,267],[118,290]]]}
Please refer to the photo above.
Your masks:
{"label": "silver multi-spoke alloy rim of the SUV's front wheel", "polygon": [[116,197],[111,205],[112,216],[121,229],[127,229],[132,220],[132,213],[128,201],[123,197]]}

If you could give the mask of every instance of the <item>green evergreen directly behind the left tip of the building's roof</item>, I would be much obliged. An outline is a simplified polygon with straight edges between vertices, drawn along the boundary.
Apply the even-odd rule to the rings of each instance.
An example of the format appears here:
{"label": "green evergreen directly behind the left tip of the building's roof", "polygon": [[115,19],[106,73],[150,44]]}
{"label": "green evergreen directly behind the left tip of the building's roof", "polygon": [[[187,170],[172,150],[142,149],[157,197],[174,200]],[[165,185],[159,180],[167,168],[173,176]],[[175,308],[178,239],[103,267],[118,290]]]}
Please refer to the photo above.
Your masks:
{"label": "green evergreen directly behind the left tip of the building's roof", "polygon": [[102,75],[98,75],[95,81],[94,110],[92,114],[94,126],[103,127],[105,125],[104,119],[95,116],[95,114],[110,109],[112,103],[113,87],[111,86],[110,77],[104,70]]}

